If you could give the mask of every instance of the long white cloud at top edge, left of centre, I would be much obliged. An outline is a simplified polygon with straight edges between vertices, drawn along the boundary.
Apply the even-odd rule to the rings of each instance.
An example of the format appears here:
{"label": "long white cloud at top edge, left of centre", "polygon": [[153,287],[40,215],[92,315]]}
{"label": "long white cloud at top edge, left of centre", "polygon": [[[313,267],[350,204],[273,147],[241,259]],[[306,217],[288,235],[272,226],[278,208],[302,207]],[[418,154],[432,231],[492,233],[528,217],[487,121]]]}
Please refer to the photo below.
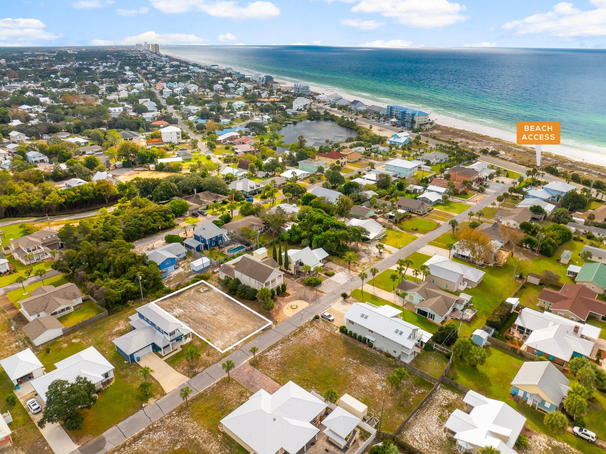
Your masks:
{"label": "long white cloud at top edge, left of centre", "polygon": [[267,19],[280,14],[280,9],[267,1],[255,1],[241,6],[235,0],[150,0],[163,13],[197,11],[216,18]]}

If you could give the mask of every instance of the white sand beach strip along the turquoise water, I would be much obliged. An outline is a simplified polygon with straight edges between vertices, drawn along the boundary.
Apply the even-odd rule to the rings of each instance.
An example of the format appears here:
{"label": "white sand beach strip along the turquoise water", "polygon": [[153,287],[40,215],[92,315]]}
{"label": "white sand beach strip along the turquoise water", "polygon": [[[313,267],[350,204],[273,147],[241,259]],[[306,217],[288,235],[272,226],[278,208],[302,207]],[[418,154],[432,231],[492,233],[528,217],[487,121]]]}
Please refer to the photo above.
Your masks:
{"label": "white sand beach strip along the turquoise water", "polygon": [[[199,61],[199,60],[195,60],[195,59],[191,59],[191,58],[185,58],[183,56],[171,55],[170,53],[163,53],[162,55],[166,55],[168,57],[180,59],[182,61],[190,62],[190,63],[205,64],[205,65],[214,64],[211,62],[204,62],[204,61]],[[242,67],[233,67],[233,68],[235,68],[236,70],[242,70],[242,71],[246,71],[246,72],[257,72],[256,70],[252,70],[250,68],[242,68]],[[344,88],[327,87],[325,85],[317,84],[315,82],[307,82],[307,81],[301,81],[301,80],[295,81],[293,79],[284,78],[284,76],[277,76],[274,78],[274,80],[277,82],[284,82],[285,84],[293,84],[295,82],[304,82],[306,84],[309,84],[311,92],[325,93],[325,94],[336,93],[337,95],[342,96],[345,99],[351,98],[352,101],[353,101],[353,99],[358,99],[359,101],[362,101],[362,102],[364,102],[364,104],[367,104],[367,105],[375,104],[375,105],[380,105],[381,107],[387,107],[387,104],[384,101],[377,101],[375,99],[364,98],[363,96],[358,96],[355,93],[350,93],[347,90],[345,90]],[[385,98],[381,98],[381,99],[385,99]],[[426,110],[431,111],[430,107],[424,107],[422,105],[413,105],[413,107],[425,108]],[[474,122],[459,119],[459,118],[453,118],[451,116],[442,115],[441,113],[430,113],[430,119],[435,121],[436,124],[441,125],[441,126],[451,127],[454,129],[463,130],[465,132],[489,136],[492,138],[500,139],[502,141],[513,142],[514,144],[516,143],[516,133],[513,131],[507,131],[504,129],[499,129],[499,128],[491,127],[488,125],[482,125],[482,124],[474,123]],[[524,147],[524,145],[519,145],[519,146]],[[591,145],[586,145],[586,146],[591,147]],[[524,147],[524,148],[527,148],[527,147]],[[596,147],[596,148],[598,148],[598,147]],[[606,165],[606,149],[599,148],[599,150],[603,150],[603,151],[601,152],[598,150],[591,150],[590,148],[586,148],[586,149],[575,148],[571,145],[543,145],[543,147],[542,147],[543,153],[550,153],[551,155],[562,156],[562,158],[570,159],[570,161],[578,162],[579,164],[581,164],[582,162],[585,162],[587,164],[605,166]]]}

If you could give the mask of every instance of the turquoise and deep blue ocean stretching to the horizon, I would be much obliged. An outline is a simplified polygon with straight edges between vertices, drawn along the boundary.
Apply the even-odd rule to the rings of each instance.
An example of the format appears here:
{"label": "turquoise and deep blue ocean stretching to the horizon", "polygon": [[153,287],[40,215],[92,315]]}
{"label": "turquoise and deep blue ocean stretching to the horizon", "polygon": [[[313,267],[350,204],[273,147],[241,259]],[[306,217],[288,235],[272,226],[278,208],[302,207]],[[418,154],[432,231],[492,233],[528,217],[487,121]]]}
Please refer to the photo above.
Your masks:
{"label": "turquoise and deep blue ocean stretching to the horizon", "polygon": [[603,153],[606,164],[606,50],[162,45],[160,52],[509,133],[518,121],[561,121],[563,145],[598,161]]}

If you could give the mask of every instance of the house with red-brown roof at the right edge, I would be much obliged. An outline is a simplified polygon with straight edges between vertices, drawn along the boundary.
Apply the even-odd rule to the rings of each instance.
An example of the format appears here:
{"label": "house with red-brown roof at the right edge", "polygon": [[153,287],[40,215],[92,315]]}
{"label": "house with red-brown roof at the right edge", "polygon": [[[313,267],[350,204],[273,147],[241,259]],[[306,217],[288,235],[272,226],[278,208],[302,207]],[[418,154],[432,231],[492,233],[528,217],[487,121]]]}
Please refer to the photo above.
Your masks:
{"label": "house with red-brown roof at the right edge", "polygon": [[564,284],[559,292],[545,287],[539,293],[539,306],[574,321],[585,322],[588,317],[600,320],[606,316],[606,302],[581,284]]}

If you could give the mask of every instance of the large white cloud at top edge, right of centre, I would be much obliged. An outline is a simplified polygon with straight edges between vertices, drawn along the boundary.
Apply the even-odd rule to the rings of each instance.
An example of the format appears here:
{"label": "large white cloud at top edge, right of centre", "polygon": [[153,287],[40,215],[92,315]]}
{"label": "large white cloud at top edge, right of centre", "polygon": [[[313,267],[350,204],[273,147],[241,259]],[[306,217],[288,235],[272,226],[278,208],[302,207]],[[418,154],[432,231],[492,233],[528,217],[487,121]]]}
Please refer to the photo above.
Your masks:
{"label": "large white cloud at top edge, right of centre", "polygon": [[351,11],[378,13],[409,27],[445,27],[467,19],[465,5],[448,0],[361,0]]}

